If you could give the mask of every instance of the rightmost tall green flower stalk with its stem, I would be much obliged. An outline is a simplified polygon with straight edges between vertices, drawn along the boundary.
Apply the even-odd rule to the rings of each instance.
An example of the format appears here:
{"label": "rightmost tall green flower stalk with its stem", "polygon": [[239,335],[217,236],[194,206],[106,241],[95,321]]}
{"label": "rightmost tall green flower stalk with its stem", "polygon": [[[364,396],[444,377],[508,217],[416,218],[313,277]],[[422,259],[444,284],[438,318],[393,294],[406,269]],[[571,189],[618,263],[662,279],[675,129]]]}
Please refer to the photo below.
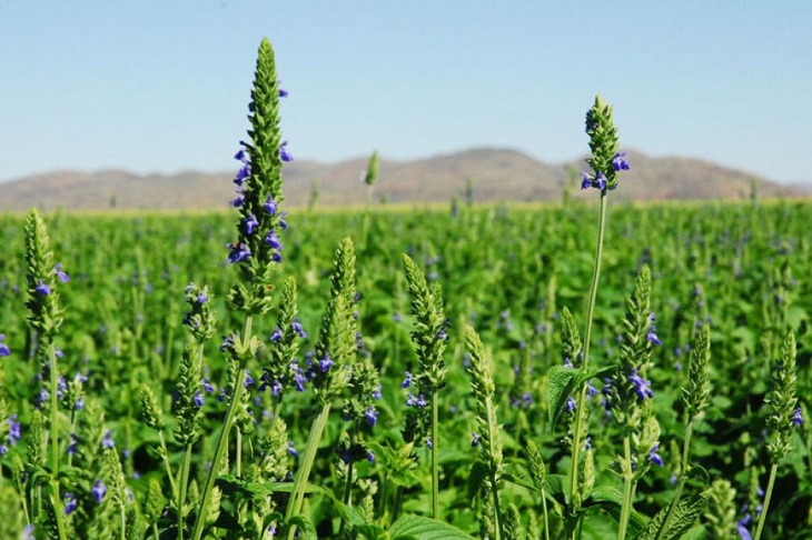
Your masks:
{"label": "rightmost tall green flower stalk with its stem", "polygon": [[761,516],[759,517],[759,527],[753,537],[754,540],[761,538],[761,532],[764,529],[766,511],[770,508],[770,499],[775,487],[779,463],[792,450],[792,443],[790,442],[792,431],[803,423],[803,417],[801,416],[801,409],[798,407],[798,398],[795,396],[796,386],[795,334],[790,330],[786,338],[784,338],[784,342],[781,344],[781,353],[773,368],[772,389],[764,400],[770,406],[770,416],[766,419],[766,424],[770,430],[770,441],[766,448],[770,452],[772,467],[770,468],[770,480],[764,492],[764,503]]}

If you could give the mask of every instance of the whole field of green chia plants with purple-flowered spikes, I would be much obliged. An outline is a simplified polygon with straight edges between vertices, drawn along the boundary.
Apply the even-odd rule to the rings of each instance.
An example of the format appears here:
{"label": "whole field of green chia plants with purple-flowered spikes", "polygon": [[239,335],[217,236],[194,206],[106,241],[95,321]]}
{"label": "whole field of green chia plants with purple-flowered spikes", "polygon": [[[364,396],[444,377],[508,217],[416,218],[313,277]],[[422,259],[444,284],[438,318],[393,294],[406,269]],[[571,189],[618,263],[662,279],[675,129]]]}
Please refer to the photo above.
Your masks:
{"label": "whole field of green chia plants with purple-flowered spikes", "polygon": [[[0,538],[812,538],[809,202],[0,216]],[[574,121],[578,121],[575,119]],[[288,212],[289,210],[289,212]]]}

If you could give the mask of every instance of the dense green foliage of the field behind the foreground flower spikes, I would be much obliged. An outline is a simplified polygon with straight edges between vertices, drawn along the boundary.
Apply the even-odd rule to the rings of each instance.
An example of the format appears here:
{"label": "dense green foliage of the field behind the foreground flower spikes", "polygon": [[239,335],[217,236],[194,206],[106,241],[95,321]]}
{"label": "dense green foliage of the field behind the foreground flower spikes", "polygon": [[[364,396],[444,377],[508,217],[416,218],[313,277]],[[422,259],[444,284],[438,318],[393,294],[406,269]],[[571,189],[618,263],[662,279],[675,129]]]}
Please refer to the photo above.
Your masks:
{"label": "dense green foliage of the field behind the foreground flower spikes", "polygon": [[[329,538],[337,534],[339,527],[344,528],[341,521],[346,520],[353,534],[377,538],[375,527],[385,529],[390,524],[397,491],[403,500],[398,500],[400,519],[393,530],[403,529],[407,536],[413,528],[418,538],[429,538],[419,537],[419,528],[425,523],[416,519],[432,516],[430,451],[415,448],[415,459],[406,459],[403,453],[406,443],[402,430],[412,409],[406,407],[407,390],[402,388],[402,382],[405,371],[414,372],[419,361],[410,343],[414,320],[409,314],[402,253],[417,262],[429,284],[439,286],[433,290],[442,290],[445,316],[449,319],[444,356],[447,373],[445,383],[436,390],[440,439],[439,519],[469,534],[486,534],[487,519],[483,516],[492,510],[488,510],[489,499],[483,493],[498,488],[499,519],[505,521],[502,527],[506,536],[535,538],[541,530],[543,504],[542,490],[533,482],[537,474],[532,474],[527,466],[525,441],[529,439],[538,447],[547,474],[542,487],[546,486],[549,532],[553,538],[561,533],[561,512],[556,508],[563,502],[566,489],[556,478],[567,473],[570,458],[563,442],[566,422],[560,420],[553,429],[549,421],[547,373],[563,363],[560,320],[563,308],[574,313],[576,326],[584,322],[583,306],[594,261],[596,211],[595,207],[574,203],[547,208],[466,206],[450,213],[398,209],[291,211],[285,232],[285,260],[275,277],[275,290],[283,290],[286,277],[294,277],[298,286],[298,316],[309,332],[309,338],[301,343],[299,362],[304,366],[304,353],[317,348],[325,300],[329,298],[331,257],[340,239],[349,236],[355,243],[355,287],[360,294],[355,303],[363,336],[359,357],[368,358],[377,368],[382,384],[379,416],[374,427],[343,420],[340,408],[330,412],[310,473],[315,491],[307,497],[306,512],[311,522],[299,524],[305,533],[316,530],[319,537]],[[741,511],[742,507],[747,504],[752,509],[759,503],[756,492],[765,487],[770,469],[770,439],[765,431],[769,408],[763,407],[764,398],[773,376],[771,366],[781,356],[789,330],[794,330],[798,342],[799,404],[809,418],[806,408],[812,396],[810,214],[809,203],[645,208],[610,204],[591,366],[600,369],[618,361],[617,337],[625,331],[626,298],[634,290],[644,264],[651,269],[650,303],[663,343],[652,351],[647,378],[654,391],[651,403],[660,423],[658,452],[664,464],[653,466],[642,478],[630,532],[644,527],[648,518],[667,507],[673,496],[671,479],[680,472],[684,431],[683,389],[690,388],[689,348],[703,323],[710,322],[711,327],[711,403],[693,427],[691,463],[695,469],[686,479],[683,499],[699,497],[712,482],[725,480],[735,490],[732,506],[729,504],[735,511],[725,522],[721,510],[709,510],[705,513],[723,522],[701,517],[692,533],[704,530],[707,538],[735,534],[731,526],[749,513]],[[139,389],[146,384],[162,409],[167,458],[172,469],[179,469],[184,447],[172,437],[178,422],[171,411],[184,364],[185,288],[189,282],[208,287],[218,328],[215,339],[205,344],[202,376],[216,391],[205,396],[200,440],[194,447],[190,462],[190,478],[202,484],[226,409],[225,403],[215,399],[220,388],[228,384],[229,377],[226,354],[218,350],[219,336],[229,334],[242,324],[237,313],[226,307],[236,273],[226,263],[226,246],[235,240],[235,217],[55,214],[47,217],[46,222],[53,261],[61,262],[71,277],[59,289],[65,311],[65,321],[55,338],[56,347],[63,351],[59,359],[60,373],[68,380],[73,380],[78,372],[88,376],[80,389],[86,403],[82,410],[76,410],[67,398],[60,402],[63,431],[60,451],[66,451],[69,431],[101,437],[112,430],[126,484],[133,494],[132,503],[122,504],[129,512],[128,523],[140,523],[141,536],[143,529],[147,533],[167,529],[172,534],[177,519],[171,512],[169,516],[162,512],[160,491],[155,486],[160,487],[167,499],[175,487],[167,477],[160,452],[154,450],[160,447],[157,431],[142,420]],[[41,362],[31,356],[36,339],[26,322],[22,230],[21,217],[0,217],[4,247],[0,259],[0,333],[6,334],[4,343],[11,351],[0,359],[0,392],[7,409],[0,412],[6,418],[17,413],[23,437],[22,442],[9,447],[8,453],[0,457],[0,509],[7,517],[0,523],[3,538],[17,538],[28,522],[24,512],[33,512],[23,508],[18,493],[24,492],[24,488],[19,491],[16,484],[20,481],[20,469],[24,469],[22,463],[30,458],[26,437],[37,423],[34,410],[42,387],[38,377]],[[482,337],[492,359],[493,399],[501,424],[503,484],[484,490],[481,484],[487,483],[487,469],[482,467],[479,450],[472,448],[472,433],[483,433],[477,422],[478,403],[464,368],[466,324]],[[254,318],[255,334],[266,340],[276,326],[275,311],[268,317]],[[240,477],[235,472],[239,466],[234,463],[235,452],[240,453],[246,470],[249,463],[259,463],[263,439],[279,429],[271,422],[270,410],[277,402],[271,402],[270,389],[258,390],[267,358],[260,350],[247,366],[256,382],[247,387],[246,407],[256,424],[242,429],[240,437],[245,441],[239,448],[231,448],[229,469],[221,471],[222,478],[230,480],[218,481],[224,502],[212,519],[217,519],[224,532],[250,530],[249,514],[251,509],[258,511],[258,507],[247,501],[274,490],[267,482],[261,489],[246,482],[250,473]],[[593,383],[600,392],[602,380],[595,379]],[[592,409],[591,456],[594,456],[596,484],[604,489],[583,501],[584,508],[594,511],[592,518],[584,520],[585,538],[604,538],[616,530],[617,498],[623,487],[621,476],[612,472],[622,433],[603,413],[601,398],[598,393],[587,403]],[[311,388],[288,392],[279,403],[279,409],[274,410],[287,422],[287,438],[296,448],[304,447],[311,421],[319,412]],[[764,526],[775,538],[812,534],[809,433],[805,426],[792,432],[792,450],[778,468],[776,482],[781,488],[772,496]],[[100,439],[82,439],[79,444],[97,448]],[[347,470],[341,451],[359,448],[362,459],[351,460],[355,467]],[[374,452],[374,462],[365,459],[369,451]],[[97,462],[102,459],[107,458],[96,457]],[[285,462],[277,467],[287,474],[296,471],[296,458],[280,459]],[[67,466],[65,461],[61,479],[65,487],[83,484],[90,489],[95,471],[73,470],[88,462],[76,459]],[[347,482],[347,474],[357,478]],[[276,512],[283,513],[284,484],[279,483],[278,492],[273,494],[280,504]],[[197,489],[191,487],[189,500],[197,500]],[[721,490],[719,484],[714,484],[714,490]],[[713,504],[722,502],[721,496],[713,500]],[[82,502],[80,512],[83,516],[72,514],[71,519],[92,523],[101,516],[92,499]],[[275,516],[273,519],[281,519],[281,514]],[[256,527],[270,523],[271,518],[265,522],[263,518]],[[96,533],[98,538],[107,538],[109,531],[99,528]],[[138,534],[137,531],[128,533]],[[436,530],[434,533],[440,534]],[[448,531],[437,538],[453,538],[454,533]]]}

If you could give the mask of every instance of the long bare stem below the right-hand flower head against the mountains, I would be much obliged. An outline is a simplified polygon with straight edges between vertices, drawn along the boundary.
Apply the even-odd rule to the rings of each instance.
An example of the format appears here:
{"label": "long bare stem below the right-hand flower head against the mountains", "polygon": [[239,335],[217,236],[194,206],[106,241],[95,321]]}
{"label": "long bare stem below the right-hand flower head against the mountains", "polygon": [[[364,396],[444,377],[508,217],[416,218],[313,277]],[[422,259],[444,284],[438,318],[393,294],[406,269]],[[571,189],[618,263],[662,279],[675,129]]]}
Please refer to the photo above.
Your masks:
{"label": "long bare stem below the right-hand flower head against the mountains", "polygon": [[[584,358],[581,363],[581,371],[586,373],[590,362],[590,341],[592,340],[592,319],[595,312],[595,299],[597,298],[597,283],[601,278],[601,259],[603,258],[603,238],[606,229],[606,190],[601,191],[601,213],[597,221],[597,242],[595,247],[595,267],[592,274],[592,286],[590,287],[590,303],[586,309],[586,331],[584,333]],[[586,403],[586,379],[578,386],[577,402],[575,408],[575,429],[573,431],[573,454],[570,464],[570,497],[571,501],[577,501],[576,490],[578,488],[578,470],[581,462],[581,447],[584,440],[584,418]],[[580,507],[580,503],[577,504]],[[574,504],[571,509],[571,518],[577,516],[580,508]],[[570,530],[574,532],[575,528]]]}

